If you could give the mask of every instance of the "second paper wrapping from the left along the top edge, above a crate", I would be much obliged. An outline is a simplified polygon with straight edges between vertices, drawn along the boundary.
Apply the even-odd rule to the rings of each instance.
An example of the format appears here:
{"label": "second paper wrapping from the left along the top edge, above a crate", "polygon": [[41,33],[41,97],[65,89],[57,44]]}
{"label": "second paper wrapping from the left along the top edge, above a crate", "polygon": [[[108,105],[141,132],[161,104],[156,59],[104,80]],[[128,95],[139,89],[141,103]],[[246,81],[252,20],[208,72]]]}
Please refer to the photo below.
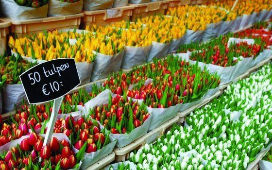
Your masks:
{"label": "second paper wrapping from the left along the top edge, above a crate", "polygon": [[67,16],[81,13],[83,7],[83,0],[74,3],[62,2],[60,0],[48,1],[48,16]]}

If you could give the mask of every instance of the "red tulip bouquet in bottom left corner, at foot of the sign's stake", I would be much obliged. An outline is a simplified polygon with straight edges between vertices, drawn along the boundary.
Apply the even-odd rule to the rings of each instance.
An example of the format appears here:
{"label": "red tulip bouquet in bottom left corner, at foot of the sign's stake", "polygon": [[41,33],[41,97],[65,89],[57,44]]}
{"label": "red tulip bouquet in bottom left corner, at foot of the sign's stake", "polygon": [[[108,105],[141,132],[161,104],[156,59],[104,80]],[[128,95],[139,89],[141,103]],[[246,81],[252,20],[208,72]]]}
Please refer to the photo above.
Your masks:
{"label": "red tulip bouquet in bottom left corner, at foot of the sign's stake", "polygon": [[7,146],[9,149],[5,149],[0,155],[1,169],[68,170],[80,167],[85,148],[74,153],[68,138],[56,134],[53,134],[50,145],[43,146],[43,137],[32,132]]}

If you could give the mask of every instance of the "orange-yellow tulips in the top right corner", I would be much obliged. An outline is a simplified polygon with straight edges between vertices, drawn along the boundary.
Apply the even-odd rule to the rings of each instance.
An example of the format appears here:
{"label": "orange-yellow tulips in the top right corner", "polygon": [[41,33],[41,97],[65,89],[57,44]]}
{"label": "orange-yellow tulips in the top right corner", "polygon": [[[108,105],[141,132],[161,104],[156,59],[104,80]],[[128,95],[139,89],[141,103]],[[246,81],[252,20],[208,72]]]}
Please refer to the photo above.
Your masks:
{"label": "orange-yellow tulips in the top right corner", "polygon": [[[230,11],[234,3],[235,0],[221,0],[220,2],[211,3],[211,5],[220,6]],[[250,15],[253,12],[260,12],[264,9],[272,9],[272,0],[238,0],[232,12],[236,13],[237,16],[242,16],[243,14]]]}

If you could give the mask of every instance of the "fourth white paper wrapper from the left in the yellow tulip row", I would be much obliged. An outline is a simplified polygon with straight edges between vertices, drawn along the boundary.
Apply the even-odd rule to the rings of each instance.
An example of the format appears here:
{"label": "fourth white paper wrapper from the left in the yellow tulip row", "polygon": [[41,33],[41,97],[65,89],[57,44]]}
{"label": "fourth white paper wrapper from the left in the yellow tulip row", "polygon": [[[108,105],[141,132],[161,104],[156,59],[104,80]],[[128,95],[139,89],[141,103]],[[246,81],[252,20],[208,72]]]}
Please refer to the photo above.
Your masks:
{"label": "fourth white paper wrapper from the left in the yellow tulip row", "polygon": [[148,54],[147,61],[152,61],[153,58],[162,58],[166,56],[169,46],[170,43],[165,44],[152,41],[152,47]]}

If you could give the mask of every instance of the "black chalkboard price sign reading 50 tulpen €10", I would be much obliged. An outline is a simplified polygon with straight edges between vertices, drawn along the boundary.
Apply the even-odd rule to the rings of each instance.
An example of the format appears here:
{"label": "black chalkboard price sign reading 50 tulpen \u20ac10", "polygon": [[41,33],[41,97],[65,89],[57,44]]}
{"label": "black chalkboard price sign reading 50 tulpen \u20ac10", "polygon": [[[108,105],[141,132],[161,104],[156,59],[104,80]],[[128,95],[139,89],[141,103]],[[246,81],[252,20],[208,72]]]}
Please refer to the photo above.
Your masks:
{"label": "black chalkboard price sign reading 50 tulpen \u20ac10", "polygon": [[80,84],[73,58],[41,63],[21,74],[20,79],[30,104],[52,101]]}

